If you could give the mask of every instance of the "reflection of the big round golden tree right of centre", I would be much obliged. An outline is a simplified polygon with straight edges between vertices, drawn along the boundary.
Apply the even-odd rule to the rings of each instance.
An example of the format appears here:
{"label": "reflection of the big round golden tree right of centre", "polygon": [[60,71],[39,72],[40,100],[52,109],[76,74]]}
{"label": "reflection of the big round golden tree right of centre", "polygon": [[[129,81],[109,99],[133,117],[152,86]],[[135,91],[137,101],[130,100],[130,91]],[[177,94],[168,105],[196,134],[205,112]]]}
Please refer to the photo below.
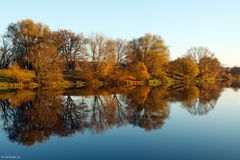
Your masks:
{"label": "reflection of the big round golden tree right of centre", "polygon": [[128,94],[129,123],[152,130],[161,128],[169,115],[166,90],[141,87]]}

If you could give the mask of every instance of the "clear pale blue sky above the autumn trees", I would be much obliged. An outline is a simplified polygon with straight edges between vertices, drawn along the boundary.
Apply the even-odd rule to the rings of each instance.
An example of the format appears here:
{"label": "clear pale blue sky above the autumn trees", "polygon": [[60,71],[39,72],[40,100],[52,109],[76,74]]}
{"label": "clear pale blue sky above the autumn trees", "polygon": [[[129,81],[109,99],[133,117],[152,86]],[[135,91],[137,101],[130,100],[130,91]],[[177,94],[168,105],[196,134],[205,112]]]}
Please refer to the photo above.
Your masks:
{"label": "clear pale blue sky above the autumn trees", "polygon": [[132,39],[146,32],[163,37],[171,58],[206,46],[228,66],[240,65],[240,0],[2,0],[0,33],[30,18],[90,35]]}

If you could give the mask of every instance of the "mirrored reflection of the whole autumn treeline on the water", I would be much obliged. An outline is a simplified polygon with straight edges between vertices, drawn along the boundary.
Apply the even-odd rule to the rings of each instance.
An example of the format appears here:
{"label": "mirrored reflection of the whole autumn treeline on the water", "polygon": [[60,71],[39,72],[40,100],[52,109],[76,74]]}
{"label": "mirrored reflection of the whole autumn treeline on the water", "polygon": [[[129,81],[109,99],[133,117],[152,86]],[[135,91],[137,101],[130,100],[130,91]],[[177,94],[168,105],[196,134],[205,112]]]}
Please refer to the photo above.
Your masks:
{"label": "mirrored reflection of the whole autumn treeline on the water", "polygon": [[214,109],[222,91],[218,84],[21,90],[0,94],[1,120],[9,140],[27,146],[53,135],[101,133],[129,124],[150,131],[166,123],[170,103],[180,102],[189,113],[204,115]]}

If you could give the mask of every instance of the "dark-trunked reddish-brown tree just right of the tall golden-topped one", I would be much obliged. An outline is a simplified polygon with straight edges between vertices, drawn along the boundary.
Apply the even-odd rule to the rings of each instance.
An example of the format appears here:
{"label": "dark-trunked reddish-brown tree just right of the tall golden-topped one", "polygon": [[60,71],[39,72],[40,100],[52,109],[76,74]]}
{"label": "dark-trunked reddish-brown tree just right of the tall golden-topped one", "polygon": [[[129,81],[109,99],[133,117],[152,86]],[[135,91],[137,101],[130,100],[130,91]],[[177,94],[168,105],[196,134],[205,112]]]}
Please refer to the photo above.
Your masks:
{"label": "dark-trunked reddish-brown tree just right of the tall golden-topped one", "polygon": [[87,39],[83,34],[60,30],[57,32],[58,51],[64,57],[66,70],[76,67],[80,60],[87,57]]}

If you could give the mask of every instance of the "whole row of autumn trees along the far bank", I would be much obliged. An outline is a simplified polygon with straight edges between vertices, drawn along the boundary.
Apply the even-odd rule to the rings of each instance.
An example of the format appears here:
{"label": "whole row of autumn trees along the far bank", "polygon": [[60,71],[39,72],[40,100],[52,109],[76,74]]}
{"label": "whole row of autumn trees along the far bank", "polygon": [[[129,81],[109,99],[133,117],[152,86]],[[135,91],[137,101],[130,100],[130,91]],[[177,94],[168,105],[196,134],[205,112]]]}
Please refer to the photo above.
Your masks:
{"label": "whole row of autumn trees along the far bank", "polygon": [[10,24],[1,37],[0,68],[13,65],[33,70],[33,81],[41,84],[63,79],[116,84],[227,77],[219,60],[204,47],[192,48],[171,61],[168,46],[158,35],[145,34],[131,41],[98,33],[86,37],[69,30],[51,31],[29,19]]}

